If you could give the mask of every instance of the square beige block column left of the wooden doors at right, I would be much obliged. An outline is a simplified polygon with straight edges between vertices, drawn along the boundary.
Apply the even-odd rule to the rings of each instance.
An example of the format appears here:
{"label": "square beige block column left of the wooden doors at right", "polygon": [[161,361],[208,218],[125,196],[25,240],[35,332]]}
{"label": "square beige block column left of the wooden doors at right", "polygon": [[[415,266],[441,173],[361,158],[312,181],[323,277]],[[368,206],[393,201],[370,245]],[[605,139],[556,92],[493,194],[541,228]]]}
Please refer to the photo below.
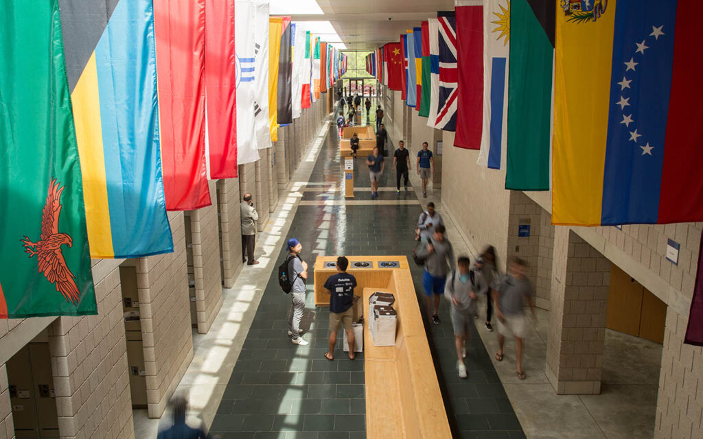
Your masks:
{"label": "square beige block column left of the wooden doors at right", "polygon": [[611,263],[567,227],[557,227],[547,377],[562,395],[600,393]]}

